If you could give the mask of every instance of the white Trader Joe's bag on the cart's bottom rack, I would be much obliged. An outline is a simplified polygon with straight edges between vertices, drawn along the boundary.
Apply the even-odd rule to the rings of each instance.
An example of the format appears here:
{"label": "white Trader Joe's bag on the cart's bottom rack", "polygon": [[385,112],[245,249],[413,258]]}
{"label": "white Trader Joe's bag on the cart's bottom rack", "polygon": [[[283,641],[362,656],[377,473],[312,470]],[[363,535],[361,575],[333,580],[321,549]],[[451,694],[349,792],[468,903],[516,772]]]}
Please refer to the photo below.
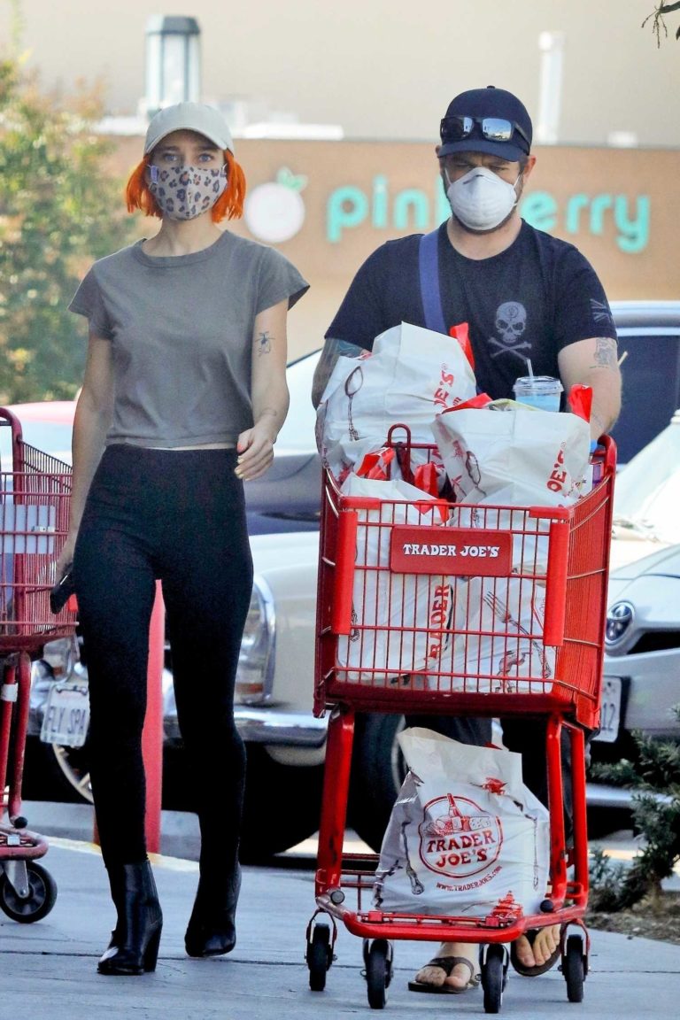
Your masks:
{"label": "white Trader Joe's bag on the cart's bottom rack", "polygon": [[475,917],[538,912],[548,812],[522,782],[521,756],[420,727],[399,742],[409,773],[382,840],[375,906]]}

